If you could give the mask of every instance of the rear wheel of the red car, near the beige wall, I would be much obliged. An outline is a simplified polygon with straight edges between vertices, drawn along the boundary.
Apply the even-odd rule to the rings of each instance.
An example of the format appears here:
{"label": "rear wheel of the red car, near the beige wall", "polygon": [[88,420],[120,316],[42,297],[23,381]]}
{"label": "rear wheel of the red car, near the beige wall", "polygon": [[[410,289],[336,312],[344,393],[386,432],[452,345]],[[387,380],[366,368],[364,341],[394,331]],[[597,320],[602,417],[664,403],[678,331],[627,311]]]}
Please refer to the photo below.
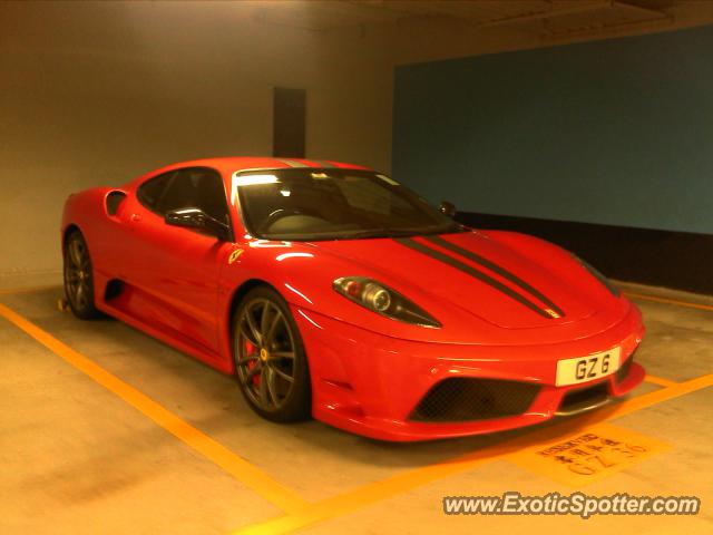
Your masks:
{"label": "rear wheel of the red car, near the beige wall", "polygon": [[65,242],[65,296],[71,312],[80,320],[94,320],[101,314],[94,305],[94,271],[87,242],[79,231],[72,231]]}

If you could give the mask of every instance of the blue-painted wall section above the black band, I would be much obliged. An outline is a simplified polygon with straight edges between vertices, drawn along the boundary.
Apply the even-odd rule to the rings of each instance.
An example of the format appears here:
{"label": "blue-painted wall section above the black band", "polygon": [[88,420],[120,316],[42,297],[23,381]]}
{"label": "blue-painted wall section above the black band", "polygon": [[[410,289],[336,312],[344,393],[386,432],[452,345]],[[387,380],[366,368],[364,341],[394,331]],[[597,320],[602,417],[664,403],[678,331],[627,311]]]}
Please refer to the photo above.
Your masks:
{"label": "blue-painted wall section above the black band", "polygon": [[397,69],[393,174],[466,212],[713,234],[713,26]]}

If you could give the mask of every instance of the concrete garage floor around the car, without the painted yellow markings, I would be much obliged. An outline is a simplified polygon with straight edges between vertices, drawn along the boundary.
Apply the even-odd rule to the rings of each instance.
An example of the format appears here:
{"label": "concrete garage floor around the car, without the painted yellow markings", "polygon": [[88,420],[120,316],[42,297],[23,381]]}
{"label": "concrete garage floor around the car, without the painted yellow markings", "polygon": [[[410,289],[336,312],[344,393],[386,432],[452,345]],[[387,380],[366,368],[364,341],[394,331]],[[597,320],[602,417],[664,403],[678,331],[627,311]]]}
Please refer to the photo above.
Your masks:
{"label": "concrete garage floor around the car, without the painted yellow markings", "polygon": [[[712,298],[626,285],[631,292],[713,305]],[[1,293],[6,304],[195,428],[320,502],[453,457],[497,448],[538,428],[438,442],[393,445],[316,421],[280,426],[244,405],[233,379],[113,320],[60,313],[59,288]],[[647,372],[686,381],[713,371],[713,310],[636,300],[648,335],[637,353]],[[221,533],[284,513],[145,415],[0,319],[0,533]],[[644,383],[631,398],[661,389]],[[629,398],[629,399],[631,399]],[[603,496],[695,495],[697,516],[445,516],[441,498],[539,495],[570,488],[506,458],[388,493],[304,533],[713,533],[713,388],[607,424],[667,442],[624,470],[579,488]],[[545,426],[546,427],[546,426]],[[539,428],[543,428],[540,426]],[[586,428],[584,428],[586,429]],[[531,435],[533,437],[537,435]],[[264,533],[271,533],[267,527]]]}

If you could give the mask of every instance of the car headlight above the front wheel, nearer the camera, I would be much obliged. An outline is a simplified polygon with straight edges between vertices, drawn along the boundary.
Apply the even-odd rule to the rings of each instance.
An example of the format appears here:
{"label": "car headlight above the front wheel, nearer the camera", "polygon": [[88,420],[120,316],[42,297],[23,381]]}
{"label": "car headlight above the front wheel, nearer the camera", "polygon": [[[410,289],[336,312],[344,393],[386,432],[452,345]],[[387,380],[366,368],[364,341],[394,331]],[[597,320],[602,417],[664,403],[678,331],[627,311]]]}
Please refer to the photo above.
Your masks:
{"label": "car headlight above the front wheel, nearer the camera", "polygon": [[365,276],[342,276],[332,286],[350,301],[392,320],[439,329],[432,315],[395,290]]}

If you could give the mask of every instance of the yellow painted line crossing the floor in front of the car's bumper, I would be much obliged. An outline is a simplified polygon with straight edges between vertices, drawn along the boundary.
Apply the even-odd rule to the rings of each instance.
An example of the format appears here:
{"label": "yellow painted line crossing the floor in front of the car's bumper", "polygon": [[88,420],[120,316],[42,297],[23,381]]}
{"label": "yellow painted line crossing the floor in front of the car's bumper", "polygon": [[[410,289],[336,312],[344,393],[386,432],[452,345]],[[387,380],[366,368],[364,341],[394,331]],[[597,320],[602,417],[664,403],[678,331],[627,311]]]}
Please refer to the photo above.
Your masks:
{"label": "yellow painted line crossing the floor in front of the car's bumper", "polygon": [[626,399],[598,411],[578,416],[575,419],[566,419],[548,427],[536,428],[518,437],[504,440],[497,445],[445,463],[402,471],[381,481],[364,485],[338,496],[323,499],[287,516],[246,526],[235,533],[270,535],[290,533],[301,527],[349,514],[395,494],[411,490],[449,475],[467,471],[478,465],[501,459],[510,454],[518,453],[521,448],[535,447],[536,445],[545,447],[551,441],[567,437],[573,432],[586,432],[590,426],[600,424],[604,420],[629,415],[646,407],[701,390],[712,385],[713,374],[680,382],[636,398]]}

